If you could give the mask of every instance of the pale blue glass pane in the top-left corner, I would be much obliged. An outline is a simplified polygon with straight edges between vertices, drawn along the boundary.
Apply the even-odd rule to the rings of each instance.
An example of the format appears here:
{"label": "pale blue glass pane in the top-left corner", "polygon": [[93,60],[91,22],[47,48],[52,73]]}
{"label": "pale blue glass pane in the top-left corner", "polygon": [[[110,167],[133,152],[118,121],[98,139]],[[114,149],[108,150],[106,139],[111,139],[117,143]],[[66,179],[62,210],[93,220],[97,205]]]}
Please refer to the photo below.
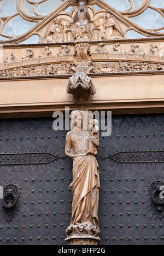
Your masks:
{"label": "pale blue glass pane in the top-left corner", "polygon": [[0,17],[9,17],[17,13],[16,0],[1,0]]}

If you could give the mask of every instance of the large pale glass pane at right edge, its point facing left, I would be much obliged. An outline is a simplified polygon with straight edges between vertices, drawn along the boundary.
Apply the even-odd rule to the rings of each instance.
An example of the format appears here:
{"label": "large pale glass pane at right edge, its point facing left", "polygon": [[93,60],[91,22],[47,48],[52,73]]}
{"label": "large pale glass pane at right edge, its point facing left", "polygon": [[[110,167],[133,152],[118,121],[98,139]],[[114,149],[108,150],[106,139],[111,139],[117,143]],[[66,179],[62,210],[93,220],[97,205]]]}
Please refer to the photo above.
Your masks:
{"label": "large pale glass pane at right edge, its point facing left", "polygon": [[140,27],[155,30],[164,27],[163,16],[156,10],[147,8],[142,14],[129,18]]}

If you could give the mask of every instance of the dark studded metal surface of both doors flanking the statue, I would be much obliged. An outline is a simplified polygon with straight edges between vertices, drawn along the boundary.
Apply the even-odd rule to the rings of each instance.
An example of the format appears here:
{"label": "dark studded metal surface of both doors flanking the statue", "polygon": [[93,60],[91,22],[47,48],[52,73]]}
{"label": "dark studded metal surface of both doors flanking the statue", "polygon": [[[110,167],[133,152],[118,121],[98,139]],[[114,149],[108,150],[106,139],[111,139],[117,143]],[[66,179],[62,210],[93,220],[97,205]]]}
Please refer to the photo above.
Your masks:
{"label": "dark studded metal surface of both doors flanking the statue", "polygon": [[[67,245],[72,160],[66,131],[55,132],[52,122],[0,121],[0,186],[9,191],[6,205],[1,199],[0,245]],[[99,245],[163,245],[163,204],[149,188],[164,181],[163,127],[162,114],[113,116],[112,135],[100,136]],[[9,211],[12,189],[19,195]]]}

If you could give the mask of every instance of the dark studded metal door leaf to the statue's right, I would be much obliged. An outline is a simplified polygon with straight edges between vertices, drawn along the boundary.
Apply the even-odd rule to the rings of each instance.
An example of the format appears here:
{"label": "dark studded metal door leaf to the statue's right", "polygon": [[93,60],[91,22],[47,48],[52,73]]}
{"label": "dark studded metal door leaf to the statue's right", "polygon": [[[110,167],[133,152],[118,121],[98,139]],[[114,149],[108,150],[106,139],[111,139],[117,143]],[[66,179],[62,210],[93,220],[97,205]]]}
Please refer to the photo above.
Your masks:
{"label": "dark studded metal door leaf to the statue's right", "polygon": [[163,219],[151,207],[149,186],[164,181],[164,115],[113,116],[101,137],[101,244],[163,245]]}

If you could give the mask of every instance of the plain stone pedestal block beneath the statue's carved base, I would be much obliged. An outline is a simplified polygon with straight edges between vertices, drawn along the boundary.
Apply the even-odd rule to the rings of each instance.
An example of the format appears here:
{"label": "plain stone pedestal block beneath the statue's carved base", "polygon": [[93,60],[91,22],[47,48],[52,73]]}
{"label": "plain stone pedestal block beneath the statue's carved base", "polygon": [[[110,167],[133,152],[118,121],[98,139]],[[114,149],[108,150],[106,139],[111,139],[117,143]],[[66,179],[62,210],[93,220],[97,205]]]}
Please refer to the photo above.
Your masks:
{"label": "plain stone pedestal block beneath the statue's carved base", "polygon": [[99,237],[95,236],[70,236],[65,239],[65,241],[68,241],[68,245],[91,245],[91,246],[97,246],[97,242],[100,240]]}

